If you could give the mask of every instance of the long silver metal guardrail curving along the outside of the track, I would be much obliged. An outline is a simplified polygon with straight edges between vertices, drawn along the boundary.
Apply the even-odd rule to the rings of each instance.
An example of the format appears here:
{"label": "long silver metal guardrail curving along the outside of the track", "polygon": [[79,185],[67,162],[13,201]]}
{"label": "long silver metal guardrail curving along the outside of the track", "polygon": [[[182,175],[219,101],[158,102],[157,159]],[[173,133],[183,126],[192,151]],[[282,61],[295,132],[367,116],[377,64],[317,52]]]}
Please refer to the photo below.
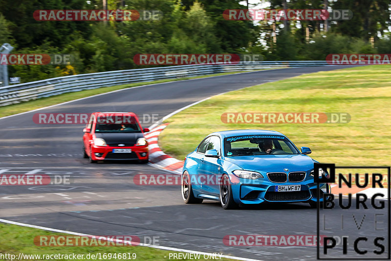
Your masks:
{"label": "long silver metal guardrail curving along the outside of the track", "polygon": [[134,82],[183,78],[230,71],[253,71],[275,67],[327,66],[326,61],[266,61],[238,64],[180,65],[70,75],[0,87],[0,106],[32,99]]}

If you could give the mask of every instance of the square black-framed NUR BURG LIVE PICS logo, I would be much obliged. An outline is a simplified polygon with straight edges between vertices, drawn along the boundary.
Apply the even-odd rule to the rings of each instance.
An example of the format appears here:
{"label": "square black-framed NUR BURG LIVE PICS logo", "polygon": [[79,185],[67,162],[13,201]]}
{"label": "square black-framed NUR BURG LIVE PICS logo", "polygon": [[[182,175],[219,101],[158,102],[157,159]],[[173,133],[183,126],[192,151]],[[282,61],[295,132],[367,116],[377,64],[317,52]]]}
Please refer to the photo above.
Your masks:
{"label": "square black-framed NUR BURG LIVE PICS logo", "polygon": [[[323,245],[317,243],[318,260],[391,259],[390,169],[390,166],[314,163],[314,182],[318,187],[317,237],[328,234]],[[337,183],[331,190],[334,194],[337,191],[338,199],[334,200],[333,193],[320,191],[321,183]]]}

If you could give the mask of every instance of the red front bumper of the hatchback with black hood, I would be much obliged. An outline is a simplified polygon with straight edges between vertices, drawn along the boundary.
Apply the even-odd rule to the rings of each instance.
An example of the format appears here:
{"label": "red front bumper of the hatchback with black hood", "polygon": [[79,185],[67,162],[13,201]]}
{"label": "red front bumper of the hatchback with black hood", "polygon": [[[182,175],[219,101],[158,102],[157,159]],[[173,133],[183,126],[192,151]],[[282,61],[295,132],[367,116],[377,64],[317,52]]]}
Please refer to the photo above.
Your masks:
{"label": "red front bumper of the hatchback with black hood", "polygon": [[[131,149],[130,153],[113,153],[113,149]],[[91,159],[102,160],[148,160],[148,145],[132,147],[92,146]]]}

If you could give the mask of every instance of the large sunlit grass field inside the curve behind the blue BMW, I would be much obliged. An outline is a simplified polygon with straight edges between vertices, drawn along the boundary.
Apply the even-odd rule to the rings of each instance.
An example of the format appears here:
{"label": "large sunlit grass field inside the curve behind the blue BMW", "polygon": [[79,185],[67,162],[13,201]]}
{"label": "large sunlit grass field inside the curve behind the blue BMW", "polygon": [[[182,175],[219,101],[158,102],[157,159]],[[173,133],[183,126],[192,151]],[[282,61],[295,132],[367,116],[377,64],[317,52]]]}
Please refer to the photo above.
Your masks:
{"label": "large sunlit grass field inside the curve behind the blue BMW", "polygon": [[[285,134],[310,155],[337,166],[390,166],[391,66],[376,65],[316,72],[248,87],[174,115],[160,136],[162,149],[183,160],[211,132],[267,129]],[[349,123],[234,124],[225,112],[349,113]]]}

